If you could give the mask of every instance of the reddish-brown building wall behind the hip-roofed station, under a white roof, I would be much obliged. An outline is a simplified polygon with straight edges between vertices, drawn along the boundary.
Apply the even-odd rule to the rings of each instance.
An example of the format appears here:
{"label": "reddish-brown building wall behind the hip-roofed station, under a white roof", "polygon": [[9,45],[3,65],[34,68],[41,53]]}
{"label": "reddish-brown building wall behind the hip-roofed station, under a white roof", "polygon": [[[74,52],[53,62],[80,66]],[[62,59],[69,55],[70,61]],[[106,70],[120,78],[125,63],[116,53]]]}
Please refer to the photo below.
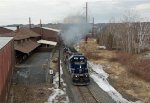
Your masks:
{"label": "reddish-brown building wall behind the hip-roofed station, under a white roof", "polygon": [[41,34],[41,38],[44,40],[49,40],[49,41],[57,41],[58,38],[58,34],[56,31],[52,31],[52,30],[47,30],[47,29],[41,29],[39,27],[35,27],[32,28],[31,30],[33,30],[34,32]]}

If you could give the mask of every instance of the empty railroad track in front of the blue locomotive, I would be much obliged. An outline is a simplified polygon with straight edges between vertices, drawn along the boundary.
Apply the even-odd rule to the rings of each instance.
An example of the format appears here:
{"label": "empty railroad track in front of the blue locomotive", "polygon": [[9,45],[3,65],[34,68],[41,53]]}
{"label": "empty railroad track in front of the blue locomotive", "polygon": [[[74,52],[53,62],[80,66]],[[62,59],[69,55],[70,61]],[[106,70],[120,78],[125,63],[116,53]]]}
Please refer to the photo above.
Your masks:
{"label": "empty railroad track in front of the blue locomotive", "polygon": [[78,86],[77,88],[83,98],[84,103],[100,103],[94,97],[88,86]]}

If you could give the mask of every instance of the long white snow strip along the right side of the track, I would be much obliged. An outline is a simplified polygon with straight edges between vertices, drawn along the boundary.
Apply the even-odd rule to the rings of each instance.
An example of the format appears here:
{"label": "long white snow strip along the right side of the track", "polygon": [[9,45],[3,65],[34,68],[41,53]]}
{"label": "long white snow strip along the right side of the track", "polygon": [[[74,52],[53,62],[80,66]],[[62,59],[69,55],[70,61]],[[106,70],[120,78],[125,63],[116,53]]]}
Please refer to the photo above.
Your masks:
{"label": "long white snow strip along the right side of the track", "polygon": [[90,67],[91,78],[93,78],[99,87],[107,92],[117,103],[143,103],[141,101],[132,102],[123,98],[122,95],[117,92],[107,81],[109,75],[103,70],[102,65],[93,64],[92,62],[88,62],[88,64]]}

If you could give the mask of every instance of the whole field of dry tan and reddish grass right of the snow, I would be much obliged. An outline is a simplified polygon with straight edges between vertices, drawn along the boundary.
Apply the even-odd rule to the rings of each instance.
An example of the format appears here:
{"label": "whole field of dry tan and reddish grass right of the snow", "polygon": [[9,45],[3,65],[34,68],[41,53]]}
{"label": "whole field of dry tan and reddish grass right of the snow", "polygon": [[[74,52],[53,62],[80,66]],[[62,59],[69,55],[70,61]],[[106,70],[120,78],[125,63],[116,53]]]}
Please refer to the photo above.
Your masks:
{"label": "whole field of dry tan and reddish grass right of the snow", "polygon": [[150,82],[148,79],[150,61],[141,60],[138,55],[115,50],[99,50],[98,52],[95,48],[96,45],[92,40],[90,40],[90,43],[88,40],[87,44],[81,42],[80,52],[83,54],[88,54],[88,52],[94,54],[95,52],[96,60],[92,59],[93,54],[88,54],[89,60],[105,66],[104,70],[109,74],[109,79],[112,81],[113,86],[123,96],[126,95],[127,99],[133,101],[140,99],[144,103],[150,103]]}

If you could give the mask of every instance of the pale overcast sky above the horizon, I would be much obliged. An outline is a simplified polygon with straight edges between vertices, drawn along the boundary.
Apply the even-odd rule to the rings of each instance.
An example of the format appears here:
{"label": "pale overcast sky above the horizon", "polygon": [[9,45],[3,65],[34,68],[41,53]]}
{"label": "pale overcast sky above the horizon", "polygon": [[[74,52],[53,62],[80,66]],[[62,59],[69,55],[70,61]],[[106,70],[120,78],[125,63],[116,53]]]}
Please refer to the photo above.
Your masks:
{"label": "pale overcast sky above the horizon", "polygon": [[136,11],[142,18],[150,18],[150,0],[0,0],[0,25],[59,23],[69,15],[85,15],[88,2],[89,21],[109,22],[120,19],[126,11]]}

